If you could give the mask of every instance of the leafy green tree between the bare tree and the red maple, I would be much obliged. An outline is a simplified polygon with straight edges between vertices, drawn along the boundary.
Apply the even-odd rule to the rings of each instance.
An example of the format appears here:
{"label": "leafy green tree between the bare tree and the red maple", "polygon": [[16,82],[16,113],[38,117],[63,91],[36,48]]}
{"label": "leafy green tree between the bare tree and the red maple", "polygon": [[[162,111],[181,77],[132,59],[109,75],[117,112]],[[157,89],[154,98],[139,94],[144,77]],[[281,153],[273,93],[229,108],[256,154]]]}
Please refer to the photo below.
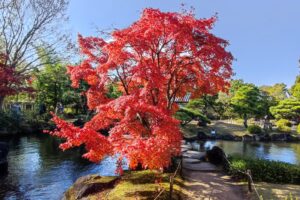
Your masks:
{"label": "leafy green tree between the bare tree and the red maple", "polygon": [[76,113],[86,110],[86,98],[82,92],[87,89],[87,85],[83,83],[79,88],[72,88],[70,77],[66,74],[66,64],[58,57],[47,54],[40,59],[47,64],[33,73],[36,102],[45,104],[50,110],[54,110],[58,102],[74,108]]}

